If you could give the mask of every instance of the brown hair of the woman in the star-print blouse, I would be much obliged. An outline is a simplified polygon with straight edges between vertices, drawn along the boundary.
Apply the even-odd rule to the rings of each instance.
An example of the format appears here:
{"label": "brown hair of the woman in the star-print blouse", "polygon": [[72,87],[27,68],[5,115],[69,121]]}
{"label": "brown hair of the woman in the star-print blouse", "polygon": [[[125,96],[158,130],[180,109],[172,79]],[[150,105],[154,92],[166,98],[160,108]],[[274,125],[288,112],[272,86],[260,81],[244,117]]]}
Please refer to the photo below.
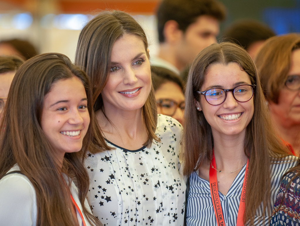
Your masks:
{"label": "brown hair of the woman in the star-print blouse", "polygon": [[[143,28],[132,16],[125,12],[104,11],[89,21],[79,34],[75,64],[84,70],[91,80],[92,104],[95,111],[103,108],[101,91],[110,76],[113,45],[116,40],[122,38],[125,34],[140,38],[145,45],[145,51],[149,58],[148,41]],[[151,146],[153,139],[158,140],[155,135],[157,109],[153,86],[143,106],[143,118],[148,132],[148,140],[144,145]],[[95,135],[97,134],[95,133]],[[98,140],[101,141],[98,150],[91,149],[91,153],[111,149],[104,142],[104,138],[98,138]]]}

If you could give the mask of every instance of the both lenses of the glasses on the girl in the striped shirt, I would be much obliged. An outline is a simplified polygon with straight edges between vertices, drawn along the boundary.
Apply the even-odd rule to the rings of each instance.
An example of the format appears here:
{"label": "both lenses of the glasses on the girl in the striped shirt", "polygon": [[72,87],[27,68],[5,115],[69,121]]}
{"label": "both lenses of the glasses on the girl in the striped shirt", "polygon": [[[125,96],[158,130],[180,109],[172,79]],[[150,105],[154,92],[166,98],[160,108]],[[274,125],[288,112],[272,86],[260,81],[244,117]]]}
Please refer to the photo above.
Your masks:
{"label": "both lenses of the glasses on the girl in the striped shirt", "polygon": [[[235,100],[246,102],[253,96],[253,88],[250,85],[239,85],[232,92]],[[205,93],[205,99],[211,105],[221,104],[226,98],[226,91],[219,88],[213,88]]]}

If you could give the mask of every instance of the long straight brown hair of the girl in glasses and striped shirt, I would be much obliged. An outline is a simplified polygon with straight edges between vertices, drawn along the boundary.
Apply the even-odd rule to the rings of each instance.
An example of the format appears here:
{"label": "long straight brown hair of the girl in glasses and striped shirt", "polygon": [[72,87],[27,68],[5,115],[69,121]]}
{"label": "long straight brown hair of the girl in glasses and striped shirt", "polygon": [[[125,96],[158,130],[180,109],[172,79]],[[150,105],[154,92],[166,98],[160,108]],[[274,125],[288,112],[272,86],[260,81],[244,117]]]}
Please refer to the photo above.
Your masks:
{"label": "long straight brown hair of the girl in glasses and striped shirt", "polygon": [[202,91],[201,86],[211,65],[228,65],[231,62],[237,63],[241,70],[249,75],[251,84],[256,85],[253,95],[254,113],[246,128],[244,139],[244,152],[249,158],[250,172],[247,180],[244,224],[250,220],[251,225],[256,209],[262,208],[262,211],[267,208],[270,212],[272,208],[270,206],[271,157],[277,158],[286,154],[281,141],[272,130],[256,67],[247,52],[236,44],[229,42],[212,44],[197,55],[190,67],[185,91],[184,175],[190,175],[205,161],[211,161],[214,146],[211,127],[203,112],[198,111],[195,106],[195,100],[200,101],[200,94],[197,91]]}

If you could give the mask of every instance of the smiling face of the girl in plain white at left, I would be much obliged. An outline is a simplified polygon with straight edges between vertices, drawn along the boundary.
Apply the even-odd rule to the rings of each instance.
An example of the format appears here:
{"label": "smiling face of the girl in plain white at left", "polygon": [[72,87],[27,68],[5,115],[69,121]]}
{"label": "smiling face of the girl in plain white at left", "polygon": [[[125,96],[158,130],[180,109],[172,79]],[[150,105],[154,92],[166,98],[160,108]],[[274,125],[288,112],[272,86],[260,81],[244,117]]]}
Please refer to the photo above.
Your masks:
{"label": "smiling face of the girl in plain white at left", "polygon": [[78,152],[90,116],[85,88],[78,77],[58,80],[44,97],[41,128],[62,161],[66,152]]}

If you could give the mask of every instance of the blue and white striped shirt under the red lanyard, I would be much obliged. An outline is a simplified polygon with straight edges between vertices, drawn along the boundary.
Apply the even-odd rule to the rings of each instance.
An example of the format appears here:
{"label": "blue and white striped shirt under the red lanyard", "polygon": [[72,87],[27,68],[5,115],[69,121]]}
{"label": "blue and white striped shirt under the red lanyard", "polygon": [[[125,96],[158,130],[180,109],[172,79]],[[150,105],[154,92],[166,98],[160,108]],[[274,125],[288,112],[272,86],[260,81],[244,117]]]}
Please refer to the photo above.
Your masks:
{"label": "blue and white striped shirt under the red lanyard", "polygon": [[[276,162],[277,164],[271,165],[271,210],[274,206],[281,177],[289,168],[295,166],[296,160],[297,157],[290,155],[283,158],[281,161]],[[226,196],[219,192],[226,226],[236,225],[245,170],[246,166],[244,166],[238,173]],[[249,173],[251,173],[250,169]],[[261,211],[256,211],[254,225],[270,224],[268,216],[261,219],[260,216],[262,215]],[[193,172],[190,175],[190,190],[187,198],[186,221],[187,226],[217,225],[214,207],[211,200],[209,181],[200,178],[198,172]]]}

